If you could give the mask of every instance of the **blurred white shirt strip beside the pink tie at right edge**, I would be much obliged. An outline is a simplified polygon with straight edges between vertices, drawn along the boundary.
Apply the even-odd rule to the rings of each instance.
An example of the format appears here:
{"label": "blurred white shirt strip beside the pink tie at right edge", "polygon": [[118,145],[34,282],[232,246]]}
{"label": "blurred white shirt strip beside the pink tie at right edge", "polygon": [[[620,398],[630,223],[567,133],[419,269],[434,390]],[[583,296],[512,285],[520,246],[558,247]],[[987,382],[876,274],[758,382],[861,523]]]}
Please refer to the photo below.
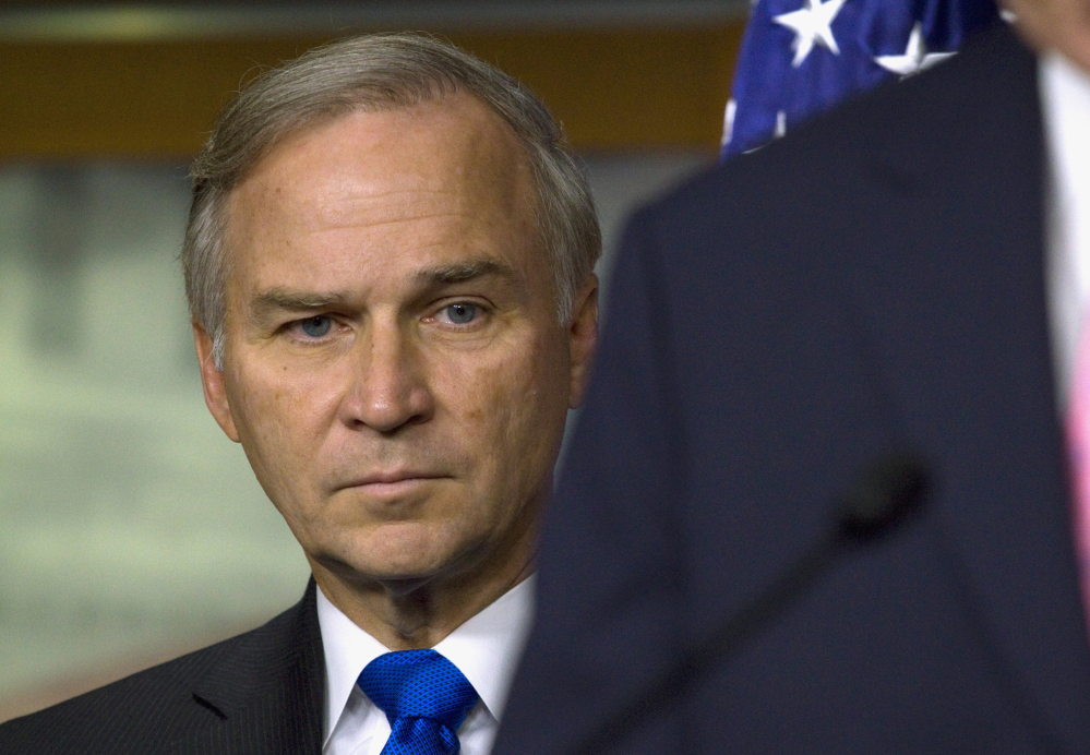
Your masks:
{"label": "blurred white shirt strip beside the pink tie at right edge", "polygon": [[1040,58],[1047,146],[1047,296],[1061,415],[1090,316],[1090,73],[1057,52]]}

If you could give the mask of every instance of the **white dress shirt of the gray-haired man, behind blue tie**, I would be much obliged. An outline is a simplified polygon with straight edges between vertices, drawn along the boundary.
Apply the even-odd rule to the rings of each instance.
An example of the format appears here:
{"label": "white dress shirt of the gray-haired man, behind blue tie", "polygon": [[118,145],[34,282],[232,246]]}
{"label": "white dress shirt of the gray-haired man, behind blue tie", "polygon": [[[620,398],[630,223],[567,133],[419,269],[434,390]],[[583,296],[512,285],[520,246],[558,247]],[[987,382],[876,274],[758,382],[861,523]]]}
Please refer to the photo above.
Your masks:
{"label": "white dress shirt of the gray-haired man, behind blue tie", "polygon": [[[526,636],[534,621],[534,577],[507,590],[446,636],[434,650],[477,690],[480,700],[458,729],[464,755],[488,755]],[[390,652],[318,591],[318,622],[325,648],[324,755],[379,755],[390,738],[386,715],[368,699],[356,679],[368,663]]]}

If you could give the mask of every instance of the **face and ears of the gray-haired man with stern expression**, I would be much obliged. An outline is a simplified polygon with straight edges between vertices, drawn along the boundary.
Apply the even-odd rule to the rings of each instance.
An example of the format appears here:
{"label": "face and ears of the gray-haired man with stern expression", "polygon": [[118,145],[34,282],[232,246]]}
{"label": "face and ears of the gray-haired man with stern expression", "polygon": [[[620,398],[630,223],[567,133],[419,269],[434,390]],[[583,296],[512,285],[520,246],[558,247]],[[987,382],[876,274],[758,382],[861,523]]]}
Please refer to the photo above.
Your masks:
{"label": "face and ears of the gray-haired man with stern expression", "polygon": [[597,316],[591,280],[560,324],[535,202],[468,95],[304,130],[233,191],[205,394],[315,573],[525,571]]}

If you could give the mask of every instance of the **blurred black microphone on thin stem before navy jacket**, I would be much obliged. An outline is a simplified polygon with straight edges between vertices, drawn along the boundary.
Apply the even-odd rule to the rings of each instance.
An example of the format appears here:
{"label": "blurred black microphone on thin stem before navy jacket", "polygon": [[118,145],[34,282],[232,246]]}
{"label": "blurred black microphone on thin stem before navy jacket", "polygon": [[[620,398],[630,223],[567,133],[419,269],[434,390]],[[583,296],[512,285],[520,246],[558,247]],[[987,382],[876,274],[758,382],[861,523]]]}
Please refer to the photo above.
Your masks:
{"label": "blurred black microphone on thin stem before navy jacket", "polygon": [[833,525],[810,551],[580,740],[572,755],[599,755],[656,706],[682,696],[765,622],[803,595],[843,553],[887,534],[918,510],[927,486],[927,467],[910,448],[893,451],[864,467],[837,500]]}

